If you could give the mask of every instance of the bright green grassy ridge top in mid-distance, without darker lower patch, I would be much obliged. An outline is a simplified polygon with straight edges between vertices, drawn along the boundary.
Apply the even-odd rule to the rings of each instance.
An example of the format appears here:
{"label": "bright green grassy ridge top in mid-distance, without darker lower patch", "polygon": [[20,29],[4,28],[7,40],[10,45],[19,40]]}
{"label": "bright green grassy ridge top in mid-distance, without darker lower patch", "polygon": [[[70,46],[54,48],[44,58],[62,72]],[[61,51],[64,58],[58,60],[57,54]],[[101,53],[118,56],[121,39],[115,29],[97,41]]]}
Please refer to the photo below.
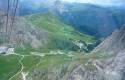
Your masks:
{"label": "bright green grassy ridge top in mid-distance, without darker lower patch", "polygon": [[62,23],[58,17],[51,13],[35,14],[27,17],[34,25],[44,28],[53,35],[66,39],[80,39],[92,42],[93,37],[75,31],[71,26]]}

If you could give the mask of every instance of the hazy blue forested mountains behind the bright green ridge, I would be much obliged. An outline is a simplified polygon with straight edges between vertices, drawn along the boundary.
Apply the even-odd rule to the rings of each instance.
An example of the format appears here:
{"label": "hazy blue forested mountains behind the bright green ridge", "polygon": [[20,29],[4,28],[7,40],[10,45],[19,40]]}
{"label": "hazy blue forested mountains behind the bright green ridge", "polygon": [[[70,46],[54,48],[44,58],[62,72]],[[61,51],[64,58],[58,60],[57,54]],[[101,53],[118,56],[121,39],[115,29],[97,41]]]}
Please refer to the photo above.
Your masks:
{"label": "hazy blue forested mountains behind the bright green ridge", "polygon": [[[123,7],[101,7],[93,4],[55,1],[51,7],[41,5],[41,7],[34,10],[26,8],[24,11],[22,8],[20,12],[27,11],[28,14],[35,14],[37,12],[54,13],[61,18],[62,22],[71,25],[76,30],[101,38],[107,37],[115,29],[120,28],[125,23],[125,10]],[[23,15],[23,13],[21,14]]]}

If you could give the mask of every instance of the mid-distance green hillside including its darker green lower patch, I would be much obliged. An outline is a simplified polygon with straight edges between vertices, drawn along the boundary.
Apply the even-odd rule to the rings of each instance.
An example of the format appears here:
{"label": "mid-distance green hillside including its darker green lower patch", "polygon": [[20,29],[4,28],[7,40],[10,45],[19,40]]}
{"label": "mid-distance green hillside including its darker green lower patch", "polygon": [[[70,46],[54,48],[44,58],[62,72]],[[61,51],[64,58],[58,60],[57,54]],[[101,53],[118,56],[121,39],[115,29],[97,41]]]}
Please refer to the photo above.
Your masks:
{"label": "mid-distance green hillside including its darker green lower patch", "polygon": [[49,44],[49,48],[56,46],[57,49],[63,49],[64,47],[72,49],[74,47],[71,40],[82,40],[86,43],[92,43],[94,41],[94,37],[74,30],[71,26],[64,24],[58,17],[52,15],[51,13],[34,14],[26,16],[26,19],[33,25],[45,29],[48,33],[50,33],[51,42]]}

